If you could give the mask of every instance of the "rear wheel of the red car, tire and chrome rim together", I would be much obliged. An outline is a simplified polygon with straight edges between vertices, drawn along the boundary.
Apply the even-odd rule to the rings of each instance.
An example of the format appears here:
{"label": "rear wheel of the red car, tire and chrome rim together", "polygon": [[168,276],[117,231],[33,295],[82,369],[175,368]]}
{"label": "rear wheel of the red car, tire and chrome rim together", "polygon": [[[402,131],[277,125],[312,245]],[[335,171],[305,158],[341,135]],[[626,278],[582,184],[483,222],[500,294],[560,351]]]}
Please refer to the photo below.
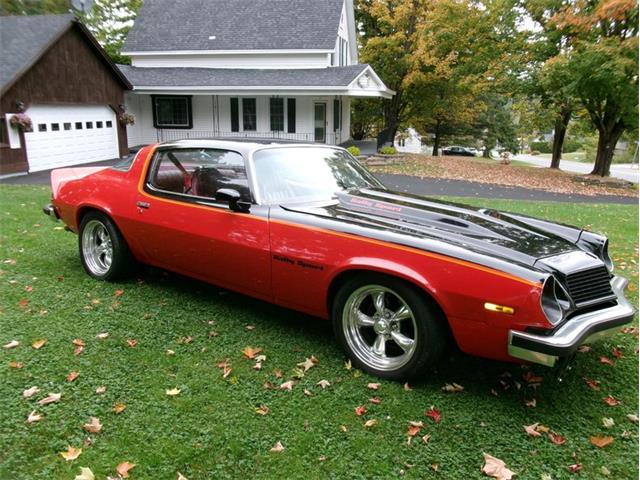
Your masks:
{"label": "rear wheel of the red car, tire and chrome rim together", "polygon": [[133,258],[127,242],[105,214],[93,211],[82,217],[78,247],[82,266],[91,277],[114,281],[130,273]]}

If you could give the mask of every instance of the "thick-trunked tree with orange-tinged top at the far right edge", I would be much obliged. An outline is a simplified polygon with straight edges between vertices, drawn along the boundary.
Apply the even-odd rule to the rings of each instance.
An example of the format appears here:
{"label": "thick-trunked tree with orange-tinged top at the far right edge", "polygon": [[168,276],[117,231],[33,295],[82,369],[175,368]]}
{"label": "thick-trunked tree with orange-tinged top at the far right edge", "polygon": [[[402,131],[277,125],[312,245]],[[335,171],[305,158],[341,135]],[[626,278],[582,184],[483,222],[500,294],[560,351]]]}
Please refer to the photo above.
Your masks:
{"label": "thick-trunked tree with orange-tinged top at the far right edge", "polygon": [[635,0],[577,0],[553,18],[578,39],[554,62],[572,72],[575,95],[598,131],[592,175],[607,176],[620,136],[638,128],[638,10]]}

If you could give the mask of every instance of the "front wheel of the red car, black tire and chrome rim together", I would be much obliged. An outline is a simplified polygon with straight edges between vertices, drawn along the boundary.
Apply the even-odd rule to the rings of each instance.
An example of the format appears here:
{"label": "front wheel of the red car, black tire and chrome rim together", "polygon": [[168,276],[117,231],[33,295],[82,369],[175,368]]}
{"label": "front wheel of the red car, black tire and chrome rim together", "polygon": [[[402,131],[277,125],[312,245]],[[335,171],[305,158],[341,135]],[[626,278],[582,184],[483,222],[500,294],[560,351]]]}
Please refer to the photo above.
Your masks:
{"label": "front wheel of the red car, black tire and chrome rim together", "polygon": [[445,348],[445,319],[431,299],[398,278],[378,273],[352,277],[339,288],[332,321],[352,363],[383,378],[424,374]]}

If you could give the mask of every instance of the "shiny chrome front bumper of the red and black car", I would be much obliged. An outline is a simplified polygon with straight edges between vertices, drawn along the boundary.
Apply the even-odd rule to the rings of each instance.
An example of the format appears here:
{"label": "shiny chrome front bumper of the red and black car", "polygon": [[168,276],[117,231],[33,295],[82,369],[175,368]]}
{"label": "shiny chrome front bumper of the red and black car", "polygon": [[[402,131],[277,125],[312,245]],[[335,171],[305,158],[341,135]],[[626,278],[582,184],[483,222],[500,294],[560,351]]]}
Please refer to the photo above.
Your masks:
{"label": "shiny chrome front bumper of the red and black car", "polygon": [[611,280],[617,305],[577,315],[549,336],[509,330],[509,355],[553,367],[559,358],[573,354],[580,345],[613,335],[621,325],[630,323],[635,313],[624,297],[627,283],[622,277]]}

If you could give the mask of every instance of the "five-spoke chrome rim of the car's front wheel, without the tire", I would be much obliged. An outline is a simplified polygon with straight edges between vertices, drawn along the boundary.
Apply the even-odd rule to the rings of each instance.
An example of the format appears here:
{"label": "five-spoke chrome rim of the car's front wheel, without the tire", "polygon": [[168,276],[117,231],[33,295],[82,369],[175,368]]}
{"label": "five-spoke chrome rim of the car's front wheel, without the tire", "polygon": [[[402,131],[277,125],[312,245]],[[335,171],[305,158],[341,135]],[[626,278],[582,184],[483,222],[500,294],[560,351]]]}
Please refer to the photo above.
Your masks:
{"label": "five-spoke chrome rim of the car's front wheel, without the tire", "polygon": [[416,351],[418,327],[411,308],[381,285],[365,285],[351,293],[342,312],[342,328],[353,354],[377,370],[397,370]]}

